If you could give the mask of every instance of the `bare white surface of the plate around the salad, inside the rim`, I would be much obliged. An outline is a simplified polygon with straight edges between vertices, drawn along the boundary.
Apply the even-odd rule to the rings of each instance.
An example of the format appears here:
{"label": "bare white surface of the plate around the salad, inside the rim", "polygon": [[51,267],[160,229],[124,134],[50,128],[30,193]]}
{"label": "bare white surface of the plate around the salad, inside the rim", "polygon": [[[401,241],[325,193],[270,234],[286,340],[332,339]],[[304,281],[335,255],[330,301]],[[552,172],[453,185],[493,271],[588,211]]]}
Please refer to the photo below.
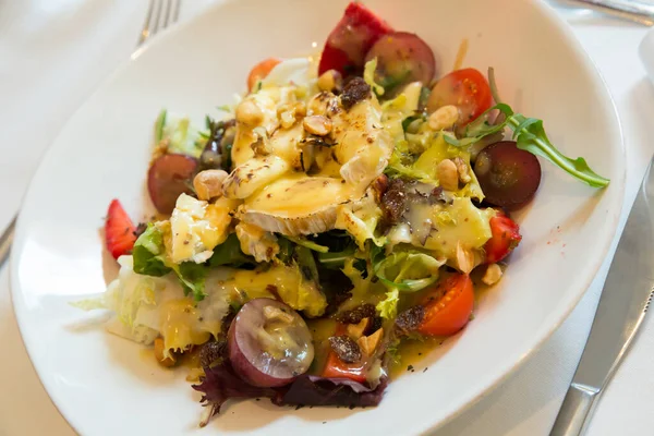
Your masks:
{"label": "bare white surface of the plate around the salad, inside the rim", "polygon": [[[463,38],[465,64],[496,68],[504,98],[545,120],[553,142],[613,182],[597,191],[543,162],[543,183],[520,214],[524,239],[475,319],[376,409],[278,409],[230,403],[205,434],[414,434],[441,424],[522,362],[590,284],[614,237],[623,149],[610,97],[566,24],[537,1],[370,0],[396,28],[415,32],[448,72]],[[70,120],[26,195],[12,252],[16,316],[55,403],[84,435],[194,431],[198,396],[184,372],[159,368],[140,346],[106,334],[68,303],[105,289],[98,229],[109,201],[144,211],[152,124],[167,107],[202,120],[231,101],[256,61],[320,46],[339,1],[227,2],[169,33],[121,69]],[[111,264],[109,264],[111,265]],[[423,373],[423,367],[428,371]],[[528,389],[529,387],[525,387]],[[326,424],[324,424],[326,422]]]}

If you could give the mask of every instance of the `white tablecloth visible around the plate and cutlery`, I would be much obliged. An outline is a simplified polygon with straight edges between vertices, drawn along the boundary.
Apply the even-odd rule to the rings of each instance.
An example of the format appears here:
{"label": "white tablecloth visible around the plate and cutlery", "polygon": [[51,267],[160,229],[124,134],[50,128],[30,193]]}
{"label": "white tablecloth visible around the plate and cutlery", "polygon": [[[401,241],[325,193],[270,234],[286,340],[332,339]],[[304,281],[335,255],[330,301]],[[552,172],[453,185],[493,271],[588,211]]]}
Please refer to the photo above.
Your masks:
{"label": "white tablecloth visible around the plate and cutlery", "polygon": [[[182,3],[181,21],[215,1]],[[0,2],[0,229],[17,210],[39,157],[93,89],[129,58],[147,1],[25,0]],[[649,137],[654,87],[638,58],[645,27],[552,0],[601,70],[618,107],[627,147],[629,208],[654,153]],[[623,226],[623,214],[620,227]],[[614,249],[617,241],[614,242]],[[611,251],[613,253],[613,251]],[[609,259],[561,327],[524,365],[437,432],[443,435],[546,435],[581,355]],[[651,318],[651,317],[650,317]],[[607,387],[589,435],[654,434],[654,320]],[[0,436],[73,435],[51,403],[23,346],[0,269]]]}

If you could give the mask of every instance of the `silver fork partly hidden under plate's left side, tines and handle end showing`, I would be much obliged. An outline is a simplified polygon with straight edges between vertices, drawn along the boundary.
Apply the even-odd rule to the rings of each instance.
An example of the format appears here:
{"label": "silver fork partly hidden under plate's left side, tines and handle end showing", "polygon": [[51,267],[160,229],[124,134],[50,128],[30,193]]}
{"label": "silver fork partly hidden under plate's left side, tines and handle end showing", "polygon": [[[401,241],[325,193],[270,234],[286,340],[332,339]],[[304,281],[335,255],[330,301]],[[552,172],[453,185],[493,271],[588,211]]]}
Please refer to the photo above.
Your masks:
{"label": "silver fork partly hidden under plate's left side, tines and handle end showing", "polygon": [[[182,0],[150,0],[143,23],[143,29],[138,34],[136,48],[145,44],[149,38],[155,36],[159,31],[165,29],[171,24],[174,24],[180,17],[180,8]],[[11,251],[13,243],[14,231],[16,228],[17,214],[14,215],[11,222],[0,235],[0,267],[4,265]]]}

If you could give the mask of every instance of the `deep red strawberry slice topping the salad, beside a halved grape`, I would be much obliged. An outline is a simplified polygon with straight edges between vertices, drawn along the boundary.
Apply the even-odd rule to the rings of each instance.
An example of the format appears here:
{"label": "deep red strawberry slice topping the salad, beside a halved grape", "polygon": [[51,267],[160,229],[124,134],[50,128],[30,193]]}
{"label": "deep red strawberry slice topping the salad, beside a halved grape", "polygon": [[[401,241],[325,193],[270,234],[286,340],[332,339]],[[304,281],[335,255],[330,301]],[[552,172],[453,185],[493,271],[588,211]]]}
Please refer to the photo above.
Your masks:
{"label": "deep red strawberry slice topping the salad, beside a halved grape", "polygon": [[336,70],[347,76],[361,70],[373,44],[391,32],[392,27],[362,3],[348,4],[343,17],[325,43],[318,74]]}

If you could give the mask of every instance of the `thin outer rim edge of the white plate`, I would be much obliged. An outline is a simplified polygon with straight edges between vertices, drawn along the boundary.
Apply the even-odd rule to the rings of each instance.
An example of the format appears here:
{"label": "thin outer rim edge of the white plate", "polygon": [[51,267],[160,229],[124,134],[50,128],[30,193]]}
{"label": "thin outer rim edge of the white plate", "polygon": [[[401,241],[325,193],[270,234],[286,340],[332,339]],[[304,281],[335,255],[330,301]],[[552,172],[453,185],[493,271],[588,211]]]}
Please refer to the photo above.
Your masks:
{"label": "thin outer rim edge of the white plate", "polygon": [[[39,158],[39,162],[34,171],[34,173],[29,178],[29,183],[27,184],[27,189],[25,190],[25,193],[21,199],[21,206],[20,206],[19,214],[17,214],[14,240],[12,242],[12,251],[10,254],[10,262],[9,262],[10,299],[12,302],[14,315],[16,317],[16,324],[19,327],[19,331],[21,334],[21,339],[23,341],[25,350],[27,351],[27,355],[29,356],[29,362],[32,364],[32,367],[34,368],[36,375],[38,376],[39,384],[44,387],[44,390],[48,395],[50,402],[55,405],[57,411],[61,414],[61,416],[63,416],[63,419],[66,421],[66,423],[78,434],[81,433],[80,428],[78,428],[80,426],[75,424],[75,422],[77,420],[72,414],[64,412],[63,409],[60,408],[59,402],[56,400],[56,397],[57,397],[56,389],[52,386],[50,386],[49,384],[47,384],[46,382],[44,382],[44,377],[41,377],[41,371],[44,371],[44,368],[41,368],[39,371],[39,365],[35,362],[35,359],[33,359],[34,350],[32,350],[32,346],[29,344],[29,342],[25,340],[25,334],[24,334],[24,327],[23,327],[25,320],[23,319],[23,315],[21,314],[21,310],[25,311],[25,308],[21,308],[20,306],[22,303],[17,303],[17,301],[20,301],[19,295],[21,294],[21,292],[19,291],[20,284],[19,284],[19,279],[17,279],[17,276],[19,276],[17,268],[19,268],[21,258],[19,258],[19,254],[17,254],[20,251],[13,250],[13,247],[17,246],[19,243],[22,244],[22,241],[24,240],[24,237],[23,237],[23,233],[24,233],[23,205],[26,202],[26,199],[31,196],[31,192],[34,189],[34,179],[41,171],[44,162],[47,160],[47,158],[50,156],[50,154],[53,153],[52,146],[59,141],[59,137],[62,135],[63,131],[71,124],[72,120],[74,120],[77,117],[77,114],[85,109],[85,107],[87,106],[87,102],[89,100],[92,100],[102,89],[108,87],[118,76],[120,76],[123,73],[123,71],[125,69],[131,68],[132,63],[135,62],[138,58],[141,58],[152,47],[165,45],[169,39],[173,38],[174,35],[177,35],[178,33],[183,32],[187,27],[193,26],[197,20],[202,19],[203,15],[213,13],[215,10],[218,10],[218,9],[225,7],[226,4],[229,4],[229,3],[232,3],[235,1],[238,1],[238,0],[217,0],[215,3],[213,3],[208,7],[205,7],[198,13],[195,13],[192,17],[187,19],[185,22],[175,24],[171,27],[168,27],[168,28],[161,31],[157,35],[156,38],[153,38],[152,40],[146,41],[143,46],[136,48],[136,50],[134,50],[128,59],[122,61],[111,73],[109,73],[100,82],[100,84],[85,98],[85,100],[73,111],[73,113],[61,124],[58,133],[49,142],[49,145],[48,145],[46,152]],[[593,76],[593,78],[600,85],[600,86],[597,86],[597,93],[603,95],[603,100],[604,100],[604,105],[606,106],[607,113],[610,113],[609,118],[613,118],[613,120],[615,122],[615,130],[616,130],[615,133],[619,137],[619,143],[615,145],[615,147],[616,147],[615,150],[618,152],[617,154],[619,156],[619,161],[616,161],[614,164],[614,168],[616,168],[616,171],[619,174],[619,178],[611,179],[610,183],[614,186],[616,184],[618,185],[616,196],[619,196],[620,194],[622,194],[621,195],[622,202],[619,203],[619,205],[617,206],[617,210],[615,210],[616,214],[613,215],[613,217],[609,216],[609,221],[610,221],[609,228],[611,229],[609,232],[610,234],[606,235],[606,240],[604,241],[602,249],[597,252],[595,262],[593,262],[592,266],[589,267],[589,270],[591,272],[584,280],[584,286],[573,293],[572,298],[568,302],[565,310],[560,311],[560,312],[552,312],[545,318],[546,320],[544,320],[542,323],[542,327],[538,330],[536,330],[536,332],[533,335],[534,340],[531,341],[531,344],[528,347],[528,349],[526,350],[517,350],[516,351],[517,355],[511,355],[510,359],[506,359],[507,363],[505,365],[499,365],[500,368],[497,370],[495,372],[495,374],[493,374],[492,377],[488,377],[489,382],[481,383],[479,385],[479,389],[475,389],[476,393],[469,395],[468,396],[469,398],[463,400],[456,410],[449,412],[443,419],[440,419],[436,422],[429,421],[429,420],[424,420],[424,421],[421,421],[420,423],[411,424],[409,428],[411,429],[411,432],[414,432],[416,434],[423,434],[425,432],[436,431],[437,428],[440,428],[445,424],[451,422],[457,416],[460,416],[463,412],[468,411],[472,405],[480,402],[482,400],[482,398],[484,398],[491,391],[495,390],[499,385],[505,383],[512,374],[514,374],[520,367],[522,367],[526,363],[526,361],[531,356],[533,356],[537,350],[540,350],[543,347],[545,341],[552,337],[552,335],[560,327],[560,325],[570,316],[570,313],[578,306],[581,299],[586,294],[592,282],[597,278],[601,267],[604,265],[605,262],[609,261],[607,258],[607,255],[610,254],[611,258],[613,258],[613,253],[609,253],[610,247],[617,241],[617,239],[619,238],[619,234],[621,233],[618,231],[621,230],[621,229],[619,229],[619,223],[620,223],[620,219],[626,210],[623,194],[626,192],[626,177],[627,177],[627,168],[626,167],[627,167],[627,165],[626,165],[625,133],[623,133],[622,122],[620,120],[619,112],[618,112],[618,109],[616,106],[616,101],[615,101],[615,99],[608,88],[608,85],[607,85],[603,74],[601,73],[600,69],[597,68],[597,65],[595,64],[593,59],[590,57],[590,55],[585,51],[585,49],[581,45],[579,38],[574,35],[572,27],[564,20],[562,16],[560,16],[558,14],[558,12],[554,9],[554,7],[550,5],[549,3],[538,1],[538,0],[524,0],[524,1],[526,1],[528,3],[531,3],[531,5],[533,8],[538,10],[540,14],[545,15],[548,19],[548,21],[550,22],[550,24],[557,27],[557,31],[562,36],[565,36],[566,41],[570,43],[570,48],[574,51],[576,57],[580,61],[583,62],[589,74],[591,76]],[[611,211],[611,209],[608,209],[608,213],[610,213],[610,211]]]}

